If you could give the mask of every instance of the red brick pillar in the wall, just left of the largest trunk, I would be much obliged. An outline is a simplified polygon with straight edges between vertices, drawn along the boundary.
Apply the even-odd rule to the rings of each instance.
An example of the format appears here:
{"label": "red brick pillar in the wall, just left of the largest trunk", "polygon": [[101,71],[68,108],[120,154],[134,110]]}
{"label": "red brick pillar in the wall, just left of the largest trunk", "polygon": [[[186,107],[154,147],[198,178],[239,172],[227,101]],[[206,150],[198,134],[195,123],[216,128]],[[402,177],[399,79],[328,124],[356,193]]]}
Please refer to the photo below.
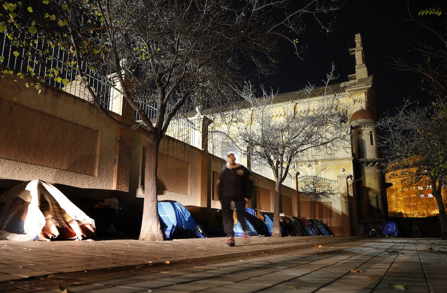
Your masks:
{"label": "red brick pillar in the wall, just left of the largest trunk", "polygon": [[[126,101],[123,101],[120,120],[128,125],[134,123],[134,110]],[[116,133],[114,187],[118,191],[129,192],[133,130],[117,127]]]}

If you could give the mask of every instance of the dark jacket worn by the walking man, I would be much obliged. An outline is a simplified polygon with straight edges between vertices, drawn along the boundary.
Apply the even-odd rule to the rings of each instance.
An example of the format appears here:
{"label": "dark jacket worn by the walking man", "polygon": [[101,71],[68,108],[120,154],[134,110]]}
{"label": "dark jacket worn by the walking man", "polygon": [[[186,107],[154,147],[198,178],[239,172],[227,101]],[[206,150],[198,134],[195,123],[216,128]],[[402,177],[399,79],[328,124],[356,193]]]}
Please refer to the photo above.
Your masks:
{"label": "dark jacket worn by the walking man", "polygon": [[219,198],[242,199],[251,197],[253,189],[250,171],[240,164],[233,168],[224,165],[218,180]]}

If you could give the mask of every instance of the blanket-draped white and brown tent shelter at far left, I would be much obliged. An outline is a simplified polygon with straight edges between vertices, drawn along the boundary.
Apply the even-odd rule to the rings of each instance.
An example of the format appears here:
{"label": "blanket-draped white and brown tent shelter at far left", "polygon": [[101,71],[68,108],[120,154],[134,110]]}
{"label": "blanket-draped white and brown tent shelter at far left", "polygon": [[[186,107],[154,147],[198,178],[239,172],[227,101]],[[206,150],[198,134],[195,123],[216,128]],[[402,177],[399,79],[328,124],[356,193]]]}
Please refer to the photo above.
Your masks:
{"label": "blanket-draped white and brown tent shelter at far left", "polygon": [[41,180],[23,182],[0,195],[0,239],[82,239],[95,222],[61,191]]}

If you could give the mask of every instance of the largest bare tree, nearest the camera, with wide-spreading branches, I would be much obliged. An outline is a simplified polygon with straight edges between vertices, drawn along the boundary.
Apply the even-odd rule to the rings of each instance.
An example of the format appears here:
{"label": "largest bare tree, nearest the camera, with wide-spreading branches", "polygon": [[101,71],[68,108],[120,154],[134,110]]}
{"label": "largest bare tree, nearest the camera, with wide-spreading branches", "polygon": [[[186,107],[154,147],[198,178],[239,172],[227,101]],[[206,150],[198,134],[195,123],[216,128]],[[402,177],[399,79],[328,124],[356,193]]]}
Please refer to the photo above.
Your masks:
{"label": "largest bare tree, nearest the camera, with wide-spreading branches", "polygon": [[[3,2],[0,32],[27,53],[42,53],[33,49],[39,40],[65,48],[98,110],[117,126],[147,137],[142,240],[162,240],[157,153],[169,123],[196,106],[217,107],[228,101],[229,85],[237,87],[242,66],[269,73],[282,40],[299,54],[297,36],[303,32],[305,17],[330,30],[331,20],[324,18],[339,4],[309,0],[291,11],[290,0]],[[118,84],[141,120],[125,123],[104,110],[81,64]],[[69,82],[58,73],[55,69],[45,77]],[[32,68],[30,74],[35,75]],[[152,105],[156,113],[145,113],[145,105]]]}

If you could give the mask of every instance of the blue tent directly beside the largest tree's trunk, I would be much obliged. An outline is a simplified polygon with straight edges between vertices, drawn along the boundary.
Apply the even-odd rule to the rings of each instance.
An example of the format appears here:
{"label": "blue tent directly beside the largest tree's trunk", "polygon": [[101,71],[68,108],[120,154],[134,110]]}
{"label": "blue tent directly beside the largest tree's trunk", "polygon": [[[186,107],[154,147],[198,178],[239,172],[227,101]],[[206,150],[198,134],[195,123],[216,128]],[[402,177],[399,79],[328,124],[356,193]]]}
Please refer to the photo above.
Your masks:
{"label": "blue tent directly beside the largest tree's trunk", "polygon": [[166,238],[203,238],[205,235],[191,213],[173,201],[158,202],[161,231]]}

